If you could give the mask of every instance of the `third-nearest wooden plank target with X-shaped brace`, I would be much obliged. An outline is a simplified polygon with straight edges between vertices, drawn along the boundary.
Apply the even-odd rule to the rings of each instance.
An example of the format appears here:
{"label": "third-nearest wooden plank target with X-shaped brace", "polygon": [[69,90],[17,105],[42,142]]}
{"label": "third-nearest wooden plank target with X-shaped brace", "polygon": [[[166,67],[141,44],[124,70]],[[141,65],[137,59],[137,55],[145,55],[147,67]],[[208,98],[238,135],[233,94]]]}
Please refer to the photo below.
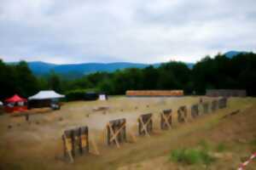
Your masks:
{"label": "third-nearest wooden plank target with X-shaped brace", "polygon": [[144,114],[138,118],[138,133],[139,135],[147,135],[153,132],[152,113]]}

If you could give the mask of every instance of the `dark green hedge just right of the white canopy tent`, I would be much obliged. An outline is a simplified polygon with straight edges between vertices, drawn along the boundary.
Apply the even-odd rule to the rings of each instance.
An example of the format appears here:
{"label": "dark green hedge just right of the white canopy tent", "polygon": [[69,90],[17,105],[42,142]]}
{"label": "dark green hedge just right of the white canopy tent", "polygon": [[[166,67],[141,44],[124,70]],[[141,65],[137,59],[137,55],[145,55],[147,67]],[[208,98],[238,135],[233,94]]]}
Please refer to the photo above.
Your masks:
{"label": "dark green hedge just right of the white canopy tent", "polygon": [[97,93],[98,90],[95,88],[71,90],[66,93],[66,99],[67,99],[67,101],[82,100],[82,99],[84,99],[84,95],[86,92],[96,92]]}

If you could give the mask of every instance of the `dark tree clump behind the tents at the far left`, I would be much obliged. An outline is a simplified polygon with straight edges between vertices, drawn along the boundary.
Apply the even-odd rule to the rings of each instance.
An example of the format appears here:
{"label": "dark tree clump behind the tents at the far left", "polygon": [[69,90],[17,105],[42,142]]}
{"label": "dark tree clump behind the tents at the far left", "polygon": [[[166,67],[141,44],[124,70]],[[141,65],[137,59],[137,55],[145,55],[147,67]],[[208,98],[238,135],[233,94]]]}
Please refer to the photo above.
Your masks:
{"label": "dark tree clump behind the tents at the far left", "polygon": [[[5,64],[0,59],[0,99],[6,99],[14,94],[29,97],[40,90],[55,89],[63,92],[61,79],[55,73],[47,77],[35,77],[25,61],[18,64]],[[64,88],[63,88],[64,89]]]}

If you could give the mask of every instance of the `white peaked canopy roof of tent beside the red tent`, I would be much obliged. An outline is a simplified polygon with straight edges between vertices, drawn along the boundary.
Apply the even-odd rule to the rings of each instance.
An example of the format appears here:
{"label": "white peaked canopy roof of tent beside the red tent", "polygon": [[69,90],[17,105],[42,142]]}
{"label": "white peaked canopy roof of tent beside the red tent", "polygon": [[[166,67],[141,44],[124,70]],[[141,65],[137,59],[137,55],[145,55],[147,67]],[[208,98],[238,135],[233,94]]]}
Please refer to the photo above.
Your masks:
{"label": "white peaked canopy roof of tent beside the red tent", "polygon": [[29,100],[32,99],[59,99],[59,98],[64,98],[65,95],[62,94],[57,94],[53,90],[43,90],[38,92],[38,94],[32,95],[29,97]]}

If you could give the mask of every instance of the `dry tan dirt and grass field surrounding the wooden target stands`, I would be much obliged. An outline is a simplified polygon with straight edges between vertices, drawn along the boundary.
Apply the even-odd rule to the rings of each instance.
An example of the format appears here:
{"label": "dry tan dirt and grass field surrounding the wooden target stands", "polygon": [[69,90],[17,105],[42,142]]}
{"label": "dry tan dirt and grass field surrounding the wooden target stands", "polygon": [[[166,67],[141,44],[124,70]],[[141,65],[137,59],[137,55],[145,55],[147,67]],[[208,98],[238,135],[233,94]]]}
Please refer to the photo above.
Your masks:
{"label": "dry tan dirt and grass field surrounding the wooden target stands", "polygon": [[[199,99],[114,97],[108,101],[70,102],[61,111],[33,115],[29,122],[22,116],[0,116],[0,169],[236,169],[256,150],[256,99],[231,98],[226,109],[177,123],[177,107],[190,106]],[[108,109],[96,111],[99,107]],[[164,109],[174,111],[174,125],[168,131],[160,131],[160,111]],[[238,114],[223,118],[237,109]],[[126,118],[127,130],[137,134],[137,117],[149,112],[154,114],[155,132],[150,138],[137,137],[136,143],[121,144],[120,149],[106,145],[103,130],[108,121]],[[63,161],[61,134],[85,125],[90,128],[90,137],[95,137],[101,155],[79,156],[73,164]],[[224,143],[227,149],[223,153],[212,149],[218,159],[207,167],[169,160],[171,150],[196,147],[201,140],[212,148]],[[255,165],[252,162],[247,169]]]}

